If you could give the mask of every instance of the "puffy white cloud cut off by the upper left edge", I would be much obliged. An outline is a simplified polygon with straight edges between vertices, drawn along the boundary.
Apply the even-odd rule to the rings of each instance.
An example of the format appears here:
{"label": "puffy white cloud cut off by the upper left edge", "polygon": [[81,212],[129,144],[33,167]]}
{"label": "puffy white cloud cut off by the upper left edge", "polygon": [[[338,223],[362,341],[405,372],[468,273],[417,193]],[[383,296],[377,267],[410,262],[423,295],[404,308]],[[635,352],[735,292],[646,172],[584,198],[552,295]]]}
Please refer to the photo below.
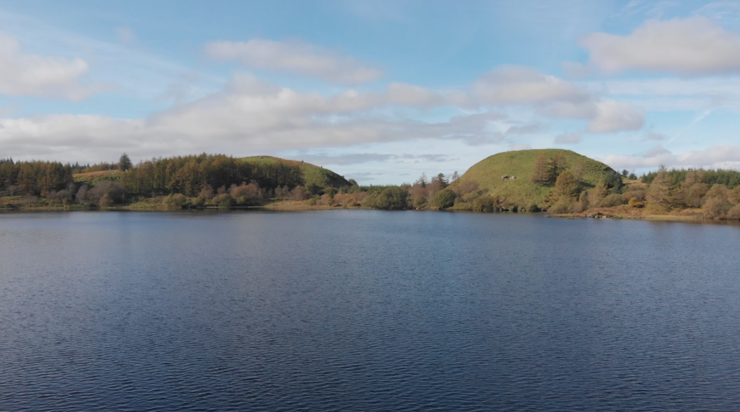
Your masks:
{"label": "puffy white cloud cut off by the upper left edge", "polygon": [[101,90],[80,82],[88,70],[81,58],[22,53],[15,38],[0,33],[0,93],[81,100]]}

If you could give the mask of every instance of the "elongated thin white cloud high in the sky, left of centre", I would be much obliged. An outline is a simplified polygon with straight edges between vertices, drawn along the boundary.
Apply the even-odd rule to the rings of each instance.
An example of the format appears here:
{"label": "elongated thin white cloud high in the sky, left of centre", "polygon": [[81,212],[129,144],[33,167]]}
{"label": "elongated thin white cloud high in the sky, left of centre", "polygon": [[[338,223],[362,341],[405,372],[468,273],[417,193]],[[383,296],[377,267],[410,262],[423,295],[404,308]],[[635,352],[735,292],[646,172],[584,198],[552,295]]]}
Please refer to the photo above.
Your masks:
{"label": "elongated thin white cloud high in the sky, left of centre", "polygon": [[368,83],[383,76],[376,67],[325,47],[300,42],[213,41],[206,45],[205,51],[217,60],[238,60],[254,69],[296,72],[340,84]]}

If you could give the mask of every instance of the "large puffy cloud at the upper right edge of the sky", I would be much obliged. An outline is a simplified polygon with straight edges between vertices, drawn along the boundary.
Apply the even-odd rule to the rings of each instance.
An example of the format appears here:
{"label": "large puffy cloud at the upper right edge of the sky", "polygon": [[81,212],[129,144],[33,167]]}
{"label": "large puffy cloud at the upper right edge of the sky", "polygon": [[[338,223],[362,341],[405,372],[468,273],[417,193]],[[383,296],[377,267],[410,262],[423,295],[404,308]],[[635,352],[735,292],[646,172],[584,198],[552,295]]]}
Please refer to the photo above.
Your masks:
{"label": "large puffy cloud at the upper right edge of the sky", "polygon": [[[630,70],[677,75],[740,72],[740,36],[702,16],[648,20],[628,36],[592,33],[580,45],[590,53],[588,67],[606,74]],[[571,72],[579,71],[577,64],[569,67]]]}

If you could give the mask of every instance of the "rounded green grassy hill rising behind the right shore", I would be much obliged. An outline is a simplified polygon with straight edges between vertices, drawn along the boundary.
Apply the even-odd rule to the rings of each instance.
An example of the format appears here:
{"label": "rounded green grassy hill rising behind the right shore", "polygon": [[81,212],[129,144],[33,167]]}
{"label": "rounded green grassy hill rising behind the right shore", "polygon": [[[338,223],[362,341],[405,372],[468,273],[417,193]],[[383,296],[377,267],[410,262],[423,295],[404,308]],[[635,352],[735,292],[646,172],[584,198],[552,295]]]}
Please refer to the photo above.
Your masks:
{"label": "rounded green grassy hill rising behind the right shore", "polygon": [[[604,163],[571,150],[518,150],[497,153],[483,159],[468,169],[452,186],[460,187],[464,186],[465,182],[475,182],[478,184],[478,190],[484,190],[488,195],[505,197],[509,203],[520,206],[537,204],[542,207],[545,206],[545,197],[553,186],[541,186],[531,181],[534,166],[539,155],[551,158],[558,154],[565,157],[569,169],[579,171],[581,181],[585,186],[595,186],[609,172],[614,172]],[[503,180],[504,175],[514,176],[516,179]]]}

